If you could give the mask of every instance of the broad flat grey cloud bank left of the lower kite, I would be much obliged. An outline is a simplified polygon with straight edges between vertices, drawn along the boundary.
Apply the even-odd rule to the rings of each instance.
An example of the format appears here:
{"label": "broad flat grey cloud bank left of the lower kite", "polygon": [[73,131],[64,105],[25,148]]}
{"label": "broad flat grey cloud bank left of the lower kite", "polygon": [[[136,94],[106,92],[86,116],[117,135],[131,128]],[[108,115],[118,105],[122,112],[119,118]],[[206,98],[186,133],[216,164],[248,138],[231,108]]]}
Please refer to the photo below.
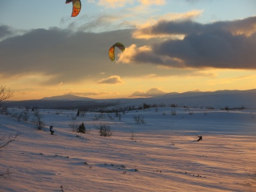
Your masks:
{"label": "broad flat grey cloud bank left of the lower kite", "polygon": [[108,49],[113,42],[129,44],[130,36],[130,30],[74,33],[58,28],[34,29],[0,42],[0,75],[51,76],[49,81],[45,80],[47,84],[77,82],[89,77],[96,81],[101,78],[100,72],[111,74],[117,70],[108,58]]}

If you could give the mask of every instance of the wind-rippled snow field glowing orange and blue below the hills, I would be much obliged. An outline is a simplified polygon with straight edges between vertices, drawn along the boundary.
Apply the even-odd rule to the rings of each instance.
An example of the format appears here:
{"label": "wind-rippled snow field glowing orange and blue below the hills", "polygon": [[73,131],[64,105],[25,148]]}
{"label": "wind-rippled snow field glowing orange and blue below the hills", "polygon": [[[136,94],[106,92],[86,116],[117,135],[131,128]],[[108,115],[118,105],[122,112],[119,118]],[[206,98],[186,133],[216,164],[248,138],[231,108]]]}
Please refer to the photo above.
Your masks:
{"label": "wind-rippled snow field glowing orange and blue below the hills", "polygon": [[[0,115],[4,141],[20,132],[1,153],[0,173],[12,174],[0,178],[0,191],[256,191],[256,110],[189,111],[88,112],[77,122],[90,134],[71,131],[77,111],[40,109],[42,131]],[[99,136],[100,124],[113,136]]]}

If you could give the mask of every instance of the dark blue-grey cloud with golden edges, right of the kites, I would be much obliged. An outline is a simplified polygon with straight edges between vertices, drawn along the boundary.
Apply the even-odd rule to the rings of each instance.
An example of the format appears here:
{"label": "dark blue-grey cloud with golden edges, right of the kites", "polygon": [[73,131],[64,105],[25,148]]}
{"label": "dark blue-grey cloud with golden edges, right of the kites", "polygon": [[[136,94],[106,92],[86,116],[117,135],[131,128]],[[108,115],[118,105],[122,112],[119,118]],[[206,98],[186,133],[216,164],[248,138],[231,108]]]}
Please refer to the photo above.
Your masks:
{"label": "dark blue-grey cloud with golden edges, right of the kites", "polygon": [[256,17],[230,22],[199,24],[191,20],[163,21],[146,34],[186,35],[182,40],[165,40],[152,47],[150,55],[140,52],[138,62],[170,67],[214,67],[256,69]]}

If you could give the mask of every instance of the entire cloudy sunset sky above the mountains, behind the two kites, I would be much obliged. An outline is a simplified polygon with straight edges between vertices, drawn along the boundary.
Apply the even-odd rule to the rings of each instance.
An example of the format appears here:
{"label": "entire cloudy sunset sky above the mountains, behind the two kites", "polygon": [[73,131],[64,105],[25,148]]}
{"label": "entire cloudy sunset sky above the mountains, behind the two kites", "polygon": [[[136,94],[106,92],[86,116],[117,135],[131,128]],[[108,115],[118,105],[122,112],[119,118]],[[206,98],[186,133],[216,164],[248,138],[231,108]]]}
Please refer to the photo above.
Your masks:
{"label": "entire cloudy sunset sky above the mountains, behind the two kites", "polygon": [[[0,85],[11,100],[256,88],[256,1],[0,1]],[[108,50],[116,42],[125,51]]]}

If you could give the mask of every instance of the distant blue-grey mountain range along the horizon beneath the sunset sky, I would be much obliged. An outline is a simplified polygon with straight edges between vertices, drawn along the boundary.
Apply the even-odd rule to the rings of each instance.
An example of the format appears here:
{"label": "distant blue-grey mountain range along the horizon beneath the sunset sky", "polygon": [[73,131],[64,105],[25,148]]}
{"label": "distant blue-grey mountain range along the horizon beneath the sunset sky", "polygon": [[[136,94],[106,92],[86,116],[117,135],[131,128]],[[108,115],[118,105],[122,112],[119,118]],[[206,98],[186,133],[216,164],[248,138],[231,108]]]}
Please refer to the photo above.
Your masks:
{"label": "distant blue-grey mountain range along the horizon beneath the sunset sky", "polygon": [[212,107],[216,109],[244,108],[256,109],[256,89],[253,90],[219,90],[216,92],[184,92],[166,93],[157,97],[137,99],[91,99],[76,95],[59,95],[45,97],[39,100],[8,101],[4,105],[8,107],[37,107],[54,109],[94,109],[109,106],[138,106],[140,104],[175,104],[195,108]]}

